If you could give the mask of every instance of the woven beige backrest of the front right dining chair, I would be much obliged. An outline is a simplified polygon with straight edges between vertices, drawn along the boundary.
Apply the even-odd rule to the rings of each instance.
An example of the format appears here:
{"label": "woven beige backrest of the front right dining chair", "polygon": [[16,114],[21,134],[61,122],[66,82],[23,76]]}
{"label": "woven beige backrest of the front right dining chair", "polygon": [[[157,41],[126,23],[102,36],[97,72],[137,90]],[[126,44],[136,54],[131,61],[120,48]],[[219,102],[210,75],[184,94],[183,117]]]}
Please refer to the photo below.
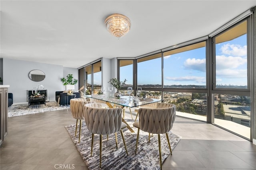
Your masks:
{"label": "woven beige backrest of the front right dining chair", "polygon": [[141,107],[138,109],[140,129],[142,131],[154,134],[164,134],[172,129],[176,116],[176,106],[170,106],[170,104],[164,106],[164,103],[162,103],[161,106],[163,108],[155,109]]}

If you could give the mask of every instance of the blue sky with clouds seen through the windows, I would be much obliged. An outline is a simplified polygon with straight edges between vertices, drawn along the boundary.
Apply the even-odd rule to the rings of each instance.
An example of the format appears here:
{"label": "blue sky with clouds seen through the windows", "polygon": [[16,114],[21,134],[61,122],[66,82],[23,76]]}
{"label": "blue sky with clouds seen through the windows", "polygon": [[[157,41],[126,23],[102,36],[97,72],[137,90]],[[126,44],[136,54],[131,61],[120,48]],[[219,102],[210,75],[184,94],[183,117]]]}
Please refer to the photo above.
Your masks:
{"label": "blue sky with clouds seen through the windows", "polygon": [[[247,85],[246,34],[216,45],[216,84]],[[138,85],[161,84],[161,58],[138,63]],[[132,65],[120,79],[132,84]],[[205,47],[164,57],[164,85],[206,85]]]}

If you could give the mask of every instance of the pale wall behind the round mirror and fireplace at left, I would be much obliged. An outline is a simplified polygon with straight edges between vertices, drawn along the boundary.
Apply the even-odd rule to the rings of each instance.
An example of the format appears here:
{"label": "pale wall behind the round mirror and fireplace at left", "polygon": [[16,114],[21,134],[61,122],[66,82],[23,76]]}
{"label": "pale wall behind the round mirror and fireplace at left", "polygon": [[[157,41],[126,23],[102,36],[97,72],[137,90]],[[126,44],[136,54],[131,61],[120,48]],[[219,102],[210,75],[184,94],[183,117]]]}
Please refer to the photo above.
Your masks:
{"label": "pale wall behind the round mirror and fireplace at left", "polygon": [[[35,69],[42,70],[46,75],[41,82],[34,82],[28,77],[28,73]],[[13,93],[14,104],[26,104],[27,90],[33,90],[38,84],[47,90],[50,101],[55,101],[55,92],[65,90],[60,78],[67,74],[78,78],[76,68],[3,58],[3,84],[10,85],[8,90]]]}

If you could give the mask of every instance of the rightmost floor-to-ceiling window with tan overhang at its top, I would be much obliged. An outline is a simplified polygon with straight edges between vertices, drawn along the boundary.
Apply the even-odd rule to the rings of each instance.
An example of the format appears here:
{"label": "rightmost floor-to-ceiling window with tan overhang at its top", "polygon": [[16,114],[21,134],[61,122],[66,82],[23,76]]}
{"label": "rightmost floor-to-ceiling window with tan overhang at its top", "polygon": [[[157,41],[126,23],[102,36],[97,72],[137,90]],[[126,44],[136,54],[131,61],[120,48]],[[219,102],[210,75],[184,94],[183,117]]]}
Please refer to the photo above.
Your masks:
{"label": "rightmost floor-to-ceiling window with tan overhang at its top", "polygon": [[214,123],[250,139],[248,21],[213,37]]}

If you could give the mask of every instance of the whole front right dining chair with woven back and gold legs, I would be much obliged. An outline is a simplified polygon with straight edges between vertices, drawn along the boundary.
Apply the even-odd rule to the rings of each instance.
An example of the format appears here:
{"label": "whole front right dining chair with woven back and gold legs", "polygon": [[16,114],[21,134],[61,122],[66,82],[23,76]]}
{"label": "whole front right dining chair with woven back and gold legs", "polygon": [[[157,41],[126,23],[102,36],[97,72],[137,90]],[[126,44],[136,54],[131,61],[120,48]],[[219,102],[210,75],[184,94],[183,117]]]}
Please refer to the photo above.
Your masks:
{"label": "whole front right dining chair with woven back and gold legs", "polygon": [[164,133],[166,134],[170,153],[172,154],[172,149],[170,146],[170,141],[167,133],[172,129],[172,125],[175,121],[176,106],[174,104],[157,103],[156,108],[140,107],[138,109],[138,114],[139,114],[139,121],[136,121],[135,123],[133,123],[134,127],[138,128],[135,153],[137,154],[140,130],[148,133],[158,134],[160,168],[162,170],[160,134],[164,134]]}

